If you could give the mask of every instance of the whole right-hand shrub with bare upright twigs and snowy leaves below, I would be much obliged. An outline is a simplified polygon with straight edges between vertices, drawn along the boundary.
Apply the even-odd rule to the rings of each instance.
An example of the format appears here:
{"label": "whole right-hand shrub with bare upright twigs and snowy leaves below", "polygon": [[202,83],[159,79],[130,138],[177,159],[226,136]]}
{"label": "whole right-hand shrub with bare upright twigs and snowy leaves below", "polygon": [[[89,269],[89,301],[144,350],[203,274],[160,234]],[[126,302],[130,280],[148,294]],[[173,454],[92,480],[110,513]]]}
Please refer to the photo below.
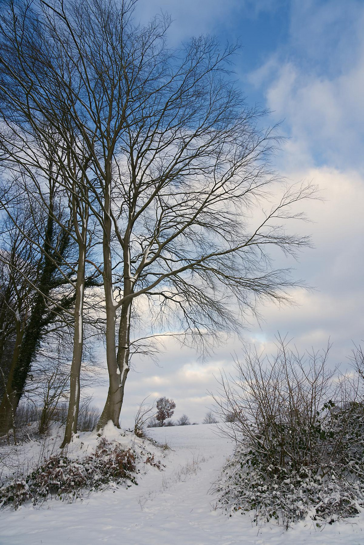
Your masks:
{"label": "whole right-hand shrub with bare upright twigs and snowy leaves below", "polygon": [[[274,358],[247,351],[215,397],[236,440],[218,485],[228,512],[288,528],[333,522],[364,506],[364,404],[357,377],[337,379],[328,350],[301,356],[280,340]],[[320,522],[317,522],[320,524]]]}

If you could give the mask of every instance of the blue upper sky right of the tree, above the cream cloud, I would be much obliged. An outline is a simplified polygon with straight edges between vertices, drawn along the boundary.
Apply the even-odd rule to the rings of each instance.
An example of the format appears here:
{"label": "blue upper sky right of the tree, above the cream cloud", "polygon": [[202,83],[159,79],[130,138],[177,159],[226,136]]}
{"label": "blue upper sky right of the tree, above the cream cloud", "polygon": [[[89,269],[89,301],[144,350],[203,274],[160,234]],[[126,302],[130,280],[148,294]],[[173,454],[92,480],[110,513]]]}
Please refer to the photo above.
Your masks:
{"label": "blue upper sky right of the tree, above the cream cloud", "polygon": [[[308,132],[315,164],[341,167],[341,162],[355,161],[359,166],[357,154],[364,138],[362,0],[139,0],[137,4],[142,22],[160,11],[172,16],[172,46],[201,33],[217,35],[222,44],[239,41],[235,71],[248,101],[268,106],[273,111],[271,121],[286,120],[283,132],[292,138],[300,111],[307,116],[297,129]],[[308,100],[312,108],[307,107]],[[341,130],[347,133],[346,142]],[[360,142],[353,142],[353,136],[355,140],[359,136]],[[349,153],[349,146],[356,149],[356,156]]]}

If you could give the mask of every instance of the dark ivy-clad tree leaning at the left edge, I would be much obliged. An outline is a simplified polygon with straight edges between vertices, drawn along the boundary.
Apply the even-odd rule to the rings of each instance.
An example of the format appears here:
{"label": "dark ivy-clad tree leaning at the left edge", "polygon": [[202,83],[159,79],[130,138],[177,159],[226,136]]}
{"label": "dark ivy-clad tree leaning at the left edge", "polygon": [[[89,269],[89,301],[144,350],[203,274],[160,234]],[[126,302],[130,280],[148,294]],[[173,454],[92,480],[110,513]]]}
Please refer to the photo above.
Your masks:
{"label": "dark ivy-clad tree leaning at the left edge", "polygon": [[[75,320],[72,324],[70,319],[72,306],[75,306],[74,313],[80,311],[77,306],[77,293],[73,293],[68,278],[65,278],[65,272],[73,277],[75,266],[71,262],[73,252],[69,243],[70,235],[64,228],[64,214],[57,194],[50,191],[49,204],[42,208],[37,197],[45,198],[45,189],[43,194],[34,195],[28,191],[27,184],[14,185],[16,189],[7,192],[8,206],[2,216],[0,263],[1,271],[8,279],[7,285],[3,284],[7,287],[1,302],[3,311],[7,311],[5,314],[3,312],[3,317],[10,317],[12,322],[5,324],[4,336],[1,336],[0,340],[10,343],[12,352],[5,343],[7,350],[2,351],[1,358],[4,390],[0,405],[0,433],[4,434],[13,427],[15,411],[21,396],[26,394],[29,398],[29,373],[32,378],[30,390],[33,394],[37,391],[37,399],[33,402],[43,408],[40,417],[42,433],[59,403],[69,399],[72,393],[65,385],[65,381],[69,381],[70,377],[69,368],[68,365],[67,368],[64,364],[62,366],[54,345],[54,337],[56,344],[62,345],[65,351],[69,349],[67,337],[70,335],[72,325],[74,330],[81,331],[82,334],[83,323],[80,326],[80,320]],[[3,197],[1,202],[5,208]],[[75,217],[72,210],[69,217]],[[87,218],[83,225],[87,227]],[[80,263],[80,260],[78,259],[76,263]],[[90,278],[84,279],[82,264],[80,269],[84,286],[88,287]],[[79,274],[77,270],[77,276]],[[83,299],[84,289],[81,289],[81,292]],[[88,332],[91,333],[90,328]],[[10,338],[7,340],[9,335]],[[11,335],[15,335],[14,339]],[[53,353],[47,358],[44,357],[44,350],[41,354],[45,339],[48,344],[53,342]],[[75,348],[73,352],[75,353]],[[81,359],[82,349],[81,354],[76,354]],[[66,358],[69,361],[69,350]],[[71,365],[71,371],[73,370],[74,365]],[[79,376],[80,370],[78,381]],[[38,384],[38,387],[35,384]],[[78,382],[77,411],[79,384]],[[77,417],[77,411],[74,410],[72,416]]]}

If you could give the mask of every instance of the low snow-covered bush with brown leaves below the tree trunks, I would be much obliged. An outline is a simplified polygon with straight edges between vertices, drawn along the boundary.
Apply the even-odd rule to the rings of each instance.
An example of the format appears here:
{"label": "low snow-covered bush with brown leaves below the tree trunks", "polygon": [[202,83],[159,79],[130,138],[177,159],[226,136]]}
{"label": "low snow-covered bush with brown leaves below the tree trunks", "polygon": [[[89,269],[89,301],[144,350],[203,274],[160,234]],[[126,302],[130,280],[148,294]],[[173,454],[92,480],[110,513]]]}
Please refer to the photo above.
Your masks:
{"label": "low snow-covered bush with brown leaves below the tree trunks", "polygon": [[27,500],[36,504],[48,497],[72,500],[80,498],[84,490],[136,484],[136,460],[135,450],[122,449],[103,437],[95,452],[84,458],[71,459],[59,453],[24,478],[0,488],[0,506],[10,504],[17,508]]}

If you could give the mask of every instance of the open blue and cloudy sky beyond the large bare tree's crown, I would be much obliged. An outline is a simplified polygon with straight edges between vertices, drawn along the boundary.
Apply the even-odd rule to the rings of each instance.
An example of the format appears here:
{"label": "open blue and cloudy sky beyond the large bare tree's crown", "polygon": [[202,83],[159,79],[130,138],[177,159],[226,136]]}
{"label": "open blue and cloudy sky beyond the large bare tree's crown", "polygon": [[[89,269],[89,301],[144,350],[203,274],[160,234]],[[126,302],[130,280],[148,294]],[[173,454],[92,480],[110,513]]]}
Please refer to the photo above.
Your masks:
{"label": "open blue and cloudy sky beyond the large bare tree's crown", "polygon": [[[364,2],[362,0],[139,0],[137,18],[160,11],[173,19],[172,46],[192,35],[239,40],[235,73],[250,104],[269,108],[267,124],[282,121],[287,137],[275,157],[292,181],[312,180],[322,201],[306,203],[312,220],[301,226],[314,248],[293,267],[315,288],[296,289],[296,306],[260,308],[244,338],[230,338],[204,363],[198,354],[167,341],[159,365],[134,361],[125,387],[122,426],[132,423],[147,395],[172,397],[175,416],[201,422],[216,390],[214,375],[232,369],[242,342],[270,352],[288,334],[300,349],[332,343],[331,362],[343,362],[364,339]],[[106,387],[105,387],[106,388]],[[95,402],[102,405],[105,391]]]}

